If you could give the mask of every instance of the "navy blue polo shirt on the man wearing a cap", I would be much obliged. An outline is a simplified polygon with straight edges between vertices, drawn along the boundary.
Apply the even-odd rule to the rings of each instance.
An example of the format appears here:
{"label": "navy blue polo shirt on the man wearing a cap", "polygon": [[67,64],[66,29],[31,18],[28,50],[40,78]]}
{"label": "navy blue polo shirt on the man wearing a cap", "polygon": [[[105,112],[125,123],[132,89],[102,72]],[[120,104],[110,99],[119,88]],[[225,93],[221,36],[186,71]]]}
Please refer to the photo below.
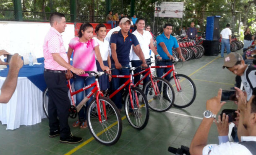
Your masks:
{"label": "navy blue polo shirt on the man wearing a cap", "polygon": [[[124,41],[124,37],[121,33],[121,30],[119,30],[118,33],[111,35],[110,44],[111,43],[116,44],[116,53],[118,56],[118,61],[122,66],[127,65],[130,62],[130,51],[132,44],[134,46],[137,46],[139,44],[136,36],[130,32],[128,32],[128,36],[125,38]],[[115,64],[112,57],[111,64]]]}

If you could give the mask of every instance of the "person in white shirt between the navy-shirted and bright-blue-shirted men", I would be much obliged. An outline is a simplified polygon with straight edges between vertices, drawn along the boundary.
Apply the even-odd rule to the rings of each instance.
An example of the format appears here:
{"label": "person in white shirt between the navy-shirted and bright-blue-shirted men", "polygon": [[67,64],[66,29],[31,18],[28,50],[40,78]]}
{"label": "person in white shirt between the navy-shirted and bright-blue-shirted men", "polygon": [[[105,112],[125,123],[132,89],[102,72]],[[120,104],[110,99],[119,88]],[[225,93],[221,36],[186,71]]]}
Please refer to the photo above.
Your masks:
{"label": "person in white shirt between the navy-shirted and bright-blue-shirted men", "polygon": [[[162,59],[159,54],[157,53],[156,48],[154,47],[153,44],[153,40],[152,40],[152,35],[150,34],[149,31],[144,30],[145,28],[145,20],[143,18],[138,18],[136,20],[136,26],[137,29],[133,32],[133,34],[136,36],[136,38],[138,39],[138,42],[141,46],[141,50],[144,54],[144,57],[146,59],[146,61],[150,61],[150,51],[149,51],[149,47],[152,49],[152,51],[154,52],[155,56],[157,56],[157,59]],[[132,48],[134,49],[134,48]],[[132,57],[132,61],[131,61],[131,65],[133,67],[138,67],[141,66],[142,61],[140,60],[140,58],[136,55],[136,53],[133,50],[133,57]],[[141,71],[141,68],[138,68],[135,70],[135,73],[138,73]],[[146,74],[146,73],[145,73]],[[145,75],[143,74],[143,75]],[[136,84],[138,81],[140,80],[140,76],[135,76],[134,77],[134,84]],[[149,80],[149,76],[147,76],[144,80],[143,80],[143,86],[144,84],[146,84],[146,81]]]}

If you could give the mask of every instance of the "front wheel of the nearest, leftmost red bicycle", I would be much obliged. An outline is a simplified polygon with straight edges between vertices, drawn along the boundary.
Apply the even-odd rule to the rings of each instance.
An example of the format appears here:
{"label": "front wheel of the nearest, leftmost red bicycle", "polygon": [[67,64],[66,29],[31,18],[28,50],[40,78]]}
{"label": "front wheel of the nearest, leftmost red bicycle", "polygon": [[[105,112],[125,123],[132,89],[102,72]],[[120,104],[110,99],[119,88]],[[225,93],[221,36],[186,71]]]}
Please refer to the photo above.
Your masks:
{"label": "front wheel of the nearest, leftmost red bicycle", "polygon": [[[106,108],[107,118],[104,117],[103,102]],[[92,100],[87,109],[87,124],[91,135],[104,145],[115,144],[122,132],[120,113],[115,104],[106,97],[99,97],[99,114],[96,99]]]}

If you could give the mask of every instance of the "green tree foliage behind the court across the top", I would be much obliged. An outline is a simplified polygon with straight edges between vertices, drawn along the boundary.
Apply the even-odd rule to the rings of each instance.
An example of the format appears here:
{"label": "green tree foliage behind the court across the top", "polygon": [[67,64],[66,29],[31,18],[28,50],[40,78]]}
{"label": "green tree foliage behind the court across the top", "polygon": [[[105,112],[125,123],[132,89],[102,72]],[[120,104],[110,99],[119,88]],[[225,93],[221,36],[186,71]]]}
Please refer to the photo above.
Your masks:
{"label": "green tree foliage behind the court across the top", "polygon": [[[0,20],[15,20],[14,0],[1,0]],[[184,2],[183,24],[181,18],[155,18],[155,2],[162,1]],[[77,22],[104,22],[106,16],[105,0],[76,0]],[[21,0],[23,20],[47,21],[49,14],[59,11],[66,14],[70,20],[70,0]],[[131,14],[131,0],[111,0],[113,13]],[[42,13],[44,12],[44,13]],[[206,17],[220,15],[219,28],[225,28],[227,23],[231,24],[232,32],[241,34],[243,30],[250,27],[253,34],[256,33],[256,0],[135,0],[135,14],[137,17],[146,19],[146,24],[153,27],[154,34],[159,34],[165,23],[174,25],[174,33],[179,33],[182,26],[188,27],[191,21],[205,31]]]}

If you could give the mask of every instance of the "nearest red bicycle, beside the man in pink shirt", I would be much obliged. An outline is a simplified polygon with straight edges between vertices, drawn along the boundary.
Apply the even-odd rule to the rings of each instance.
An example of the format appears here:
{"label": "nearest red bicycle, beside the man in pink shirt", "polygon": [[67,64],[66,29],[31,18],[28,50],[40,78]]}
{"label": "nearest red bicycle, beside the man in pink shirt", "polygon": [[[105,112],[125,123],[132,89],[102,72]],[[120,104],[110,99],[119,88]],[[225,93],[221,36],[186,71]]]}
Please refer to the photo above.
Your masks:
{"label": "nearest red bicycle, beside the man in pink shirt", "polygon": [[[85,71],[89,74],[89,77],[95,76],[95,82],[77,91],[72,91],[70,80],[68,80],[68,88],[71,94],[72,105],[70,108],[70,117],[75,118],[77,112],[85,106],[86,102],[93,95],[94,99],[87,108],[87,124],[91,135],[100,143],[104,145],[115,144],[122,132],[122,121],[120,113],[118,112],[115,104],[104,97],[99,89],[99,76],[102,76],[104,72]],[[94,75],[92,75],[93,73]],[[73,96],[81,91],[94,87],[92,91],[76,106]],[[48,117],[48,89],[43,93],[43,109]]]}

